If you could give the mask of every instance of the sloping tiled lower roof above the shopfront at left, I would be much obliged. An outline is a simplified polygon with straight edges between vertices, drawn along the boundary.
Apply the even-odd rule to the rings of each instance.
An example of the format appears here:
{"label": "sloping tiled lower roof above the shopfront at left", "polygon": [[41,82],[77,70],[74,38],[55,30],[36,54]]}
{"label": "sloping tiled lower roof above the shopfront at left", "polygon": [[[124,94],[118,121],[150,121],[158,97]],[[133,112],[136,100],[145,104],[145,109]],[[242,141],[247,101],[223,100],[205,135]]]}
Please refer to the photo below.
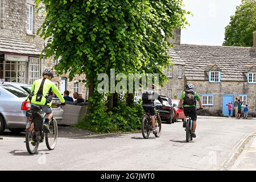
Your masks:
{"label": "sloping tiled lower roof above the shopfront at left", "polygon": [[15,36],[11,31],[0,28],[0,52],[18,55],[40,55],[41,51]]}

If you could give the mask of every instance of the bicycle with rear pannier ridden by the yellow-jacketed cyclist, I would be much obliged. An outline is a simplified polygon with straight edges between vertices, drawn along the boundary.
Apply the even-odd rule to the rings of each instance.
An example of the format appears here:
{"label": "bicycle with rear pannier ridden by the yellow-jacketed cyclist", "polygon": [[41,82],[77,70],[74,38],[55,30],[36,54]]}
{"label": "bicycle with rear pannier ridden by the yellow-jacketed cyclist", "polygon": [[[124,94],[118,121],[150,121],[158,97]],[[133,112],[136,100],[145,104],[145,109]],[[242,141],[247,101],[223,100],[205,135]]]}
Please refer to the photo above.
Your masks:
{"label": "bicycle with rear pannier ridden by the yellow-jacketed cyclist", "polygon": [[36,153],[39,143],[42,143],[44,138],[46,139],[46,146],[48,150],[53,150],[56,146],[58,137],[58,127],[55,118],[50,119],[48,122],[49,133],[44,133],[43,129],[35,131],[35,114],[40,114],[43,119],[46,117],[46,113],[44,113],[40,106],[32,105],[31,109],[27,110],[26,148],[29,154]]}

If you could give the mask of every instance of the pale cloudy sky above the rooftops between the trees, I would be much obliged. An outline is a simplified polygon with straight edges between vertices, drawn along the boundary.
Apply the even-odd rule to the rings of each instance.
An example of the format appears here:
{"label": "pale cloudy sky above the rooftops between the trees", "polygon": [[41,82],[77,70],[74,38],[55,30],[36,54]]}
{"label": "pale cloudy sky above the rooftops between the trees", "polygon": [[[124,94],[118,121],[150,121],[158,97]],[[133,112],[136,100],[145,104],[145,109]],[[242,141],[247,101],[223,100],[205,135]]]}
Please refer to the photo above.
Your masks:
{"label": "pale cloudy sky above the rooftops between the trees", "polygon": [[182,44],[221,46],[230,16],[241,5],[241,0],[183,0],[190,26],[181,30]]}

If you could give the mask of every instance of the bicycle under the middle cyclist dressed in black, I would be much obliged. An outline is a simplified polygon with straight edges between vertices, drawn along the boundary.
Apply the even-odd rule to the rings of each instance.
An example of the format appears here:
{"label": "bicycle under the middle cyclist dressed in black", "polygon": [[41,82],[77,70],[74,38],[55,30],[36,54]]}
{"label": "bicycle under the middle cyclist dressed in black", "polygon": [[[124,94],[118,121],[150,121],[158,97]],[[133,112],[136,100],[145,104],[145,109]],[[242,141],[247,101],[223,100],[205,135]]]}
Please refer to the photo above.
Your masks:
{"label": "bicycle under the middle cyclist dressed in black", "polygon": [[[155,106],[155,130],[157,131],[155,137],[160,137],[161,134],[161,118],[158,109],[159,106]],[[153,131],[152,120],[149,111],[146,110],[146,113],[143,115],[142,119],[142,136],[144,139],[148,139],[150,131]]]}

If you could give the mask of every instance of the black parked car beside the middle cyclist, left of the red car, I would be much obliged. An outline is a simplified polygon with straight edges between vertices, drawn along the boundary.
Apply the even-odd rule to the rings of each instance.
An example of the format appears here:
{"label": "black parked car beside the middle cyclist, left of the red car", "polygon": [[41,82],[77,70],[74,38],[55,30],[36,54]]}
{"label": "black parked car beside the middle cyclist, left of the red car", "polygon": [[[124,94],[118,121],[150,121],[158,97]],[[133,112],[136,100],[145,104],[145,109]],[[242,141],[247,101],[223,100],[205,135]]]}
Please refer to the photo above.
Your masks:
{"label": "black parked car beside the middle cyclist, left of the red car", "polygon": [[171,98],[166,96],[160,96],[163,100],[163,105],[161,105],[159,100],[155,100],[155,105],[159,105],[159,114],[160,118],[163,121],[166,121],[168,124],[174,123],[174,115],[175,115],[175,109],[172,106]]}

